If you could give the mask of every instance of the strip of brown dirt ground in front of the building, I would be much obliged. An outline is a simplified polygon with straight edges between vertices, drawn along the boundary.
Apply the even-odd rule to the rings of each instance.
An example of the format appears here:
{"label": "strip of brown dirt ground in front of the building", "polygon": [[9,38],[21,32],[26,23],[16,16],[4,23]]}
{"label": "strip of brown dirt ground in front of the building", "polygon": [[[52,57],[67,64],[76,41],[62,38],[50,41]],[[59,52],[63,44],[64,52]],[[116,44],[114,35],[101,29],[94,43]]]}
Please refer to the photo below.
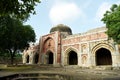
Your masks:
{"label": "strip of brown dirt ground in front of the building", "polygon": [[79,67],[52,67],[52,66],[12,66],[0,68],[0,77],[20,73],[62,74],[78,80],[120,80],[120,70],[89,69]]}

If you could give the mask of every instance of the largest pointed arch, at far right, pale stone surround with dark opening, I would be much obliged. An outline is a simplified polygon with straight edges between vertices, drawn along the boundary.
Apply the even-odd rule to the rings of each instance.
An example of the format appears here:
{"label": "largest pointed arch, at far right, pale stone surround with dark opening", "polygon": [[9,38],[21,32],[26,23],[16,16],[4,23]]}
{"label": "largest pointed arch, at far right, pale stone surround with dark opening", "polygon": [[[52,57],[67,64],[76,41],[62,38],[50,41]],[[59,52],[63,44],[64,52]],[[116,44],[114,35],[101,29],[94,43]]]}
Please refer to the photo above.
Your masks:
{"label": "largest pointed arch, at far right, pale stone surround with dark opening", "polygon": [[114,48],[108,43],[96,44],[91,51],[94,65],[112,65],[114,52]]}

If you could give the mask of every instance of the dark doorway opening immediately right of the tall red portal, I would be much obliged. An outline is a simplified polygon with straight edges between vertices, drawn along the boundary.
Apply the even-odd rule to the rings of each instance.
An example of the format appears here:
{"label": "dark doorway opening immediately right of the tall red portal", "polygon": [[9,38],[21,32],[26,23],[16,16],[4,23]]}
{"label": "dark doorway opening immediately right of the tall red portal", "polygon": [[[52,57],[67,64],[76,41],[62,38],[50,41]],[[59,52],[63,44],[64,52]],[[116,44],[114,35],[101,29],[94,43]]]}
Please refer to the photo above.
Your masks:
{"label": "dark doorway opening immediately right of the tall red portal", "polygon": [[78,57],[75,51],[70,51],[68,54],[68,63],[69,65],[77,65],[78,64]]}

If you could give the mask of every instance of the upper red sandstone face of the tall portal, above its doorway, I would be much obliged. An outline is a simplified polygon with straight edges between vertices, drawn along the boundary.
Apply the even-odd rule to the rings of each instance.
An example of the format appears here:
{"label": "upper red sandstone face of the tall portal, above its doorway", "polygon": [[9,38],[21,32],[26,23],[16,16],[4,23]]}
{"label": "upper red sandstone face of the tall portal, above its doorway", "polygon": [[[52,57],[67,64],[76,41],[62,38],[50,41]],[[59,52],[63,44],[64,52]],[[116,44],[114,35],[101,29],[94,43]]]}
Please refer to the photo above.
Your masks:
{"label": "upper red sandstone face of the tall portal, above its doorway", "polygon": [[53,32],[48,35],[44,35],[41,38],[41,51],[40,54],[46,54],[51,51],[53,54],[57,54],[57,62],[60,63],[61,58],[61,37],[60,32]]}

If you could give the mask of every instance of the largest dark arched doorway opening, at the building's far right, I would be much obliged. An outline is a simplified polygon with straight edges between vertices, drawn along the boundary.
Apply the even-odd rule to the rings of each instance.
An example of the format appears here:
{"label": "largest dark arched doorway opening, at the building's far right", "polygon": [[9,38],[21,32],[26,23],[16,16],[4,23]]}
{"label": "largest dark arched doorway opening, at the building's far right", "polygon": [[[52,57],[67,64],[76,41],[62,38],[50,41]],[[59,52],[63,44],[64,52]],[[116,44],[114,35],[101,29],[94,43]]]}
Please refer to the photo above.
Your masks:
{"label": "largest dark arched doorway opening, at the building's far right", "polygon": [[96,51],[96,65],[112,65],[111,52],[108,49],[100,48]]}

